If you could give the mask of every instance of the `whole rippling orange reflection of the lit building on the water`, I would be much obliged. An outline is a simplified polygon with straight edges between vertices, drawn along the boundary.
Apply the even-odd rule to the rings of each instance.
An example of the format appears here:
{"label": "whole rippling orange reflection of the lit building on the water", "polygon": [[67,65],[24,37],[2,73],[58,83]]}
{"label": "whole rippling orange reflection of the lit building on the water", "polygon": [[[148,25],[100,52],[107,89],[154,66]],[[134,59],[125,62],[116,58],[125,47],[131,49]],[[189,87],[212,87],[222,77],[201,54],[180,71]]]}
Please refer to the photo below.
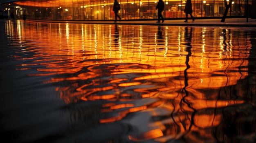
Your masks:
{"label": "whole rippling orange reflection of the lit building on the water", "polygon": [[[40,65],[41,74],[31,76],[51,75],[46,82],[57,84],[68,105],[107,101],[97,106],[97,113],[103,114],[99,123],[125,117],[134,121],[142,114],[143,125],[149,127],[129,134],[130,140],[164,142],[183,135],[193,140],[200,134],[201,139],[223,141],[234,125],[246,124],[235,118],[246,117],[242,110],[249,107],[242,103],[254,99],[255,93],[249,89],[250,95],[246,81],[252,45],[245,31],[163,26],[158,36],[155,26],[22,24],[6,25],[7,33],[19,37],[20,43],[36,43],[26,43],[34,61],[20,69]],[[42,29],[39,34],[37,27]],[[73,115],[79,118],[88,112]]]}

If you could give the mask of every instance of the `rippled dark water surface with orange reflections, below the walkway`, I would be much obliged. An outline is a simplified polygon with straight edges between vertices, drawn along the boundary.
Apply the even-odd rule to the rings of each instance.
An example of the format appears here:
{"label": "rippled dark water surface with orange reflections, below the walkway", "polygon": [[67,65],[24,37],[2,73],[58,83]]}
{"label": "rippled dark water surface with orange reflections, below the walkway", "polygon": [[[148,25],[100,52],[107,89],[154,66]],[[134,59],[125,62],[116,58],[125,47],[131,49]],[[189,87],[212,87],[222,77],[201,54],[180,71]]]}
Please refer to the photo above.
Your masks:
{"label": "rippled dark water surface with orange reflections, below the walkway", "polygon": [[256,142],[254,27],[0,29],[2,141]]}

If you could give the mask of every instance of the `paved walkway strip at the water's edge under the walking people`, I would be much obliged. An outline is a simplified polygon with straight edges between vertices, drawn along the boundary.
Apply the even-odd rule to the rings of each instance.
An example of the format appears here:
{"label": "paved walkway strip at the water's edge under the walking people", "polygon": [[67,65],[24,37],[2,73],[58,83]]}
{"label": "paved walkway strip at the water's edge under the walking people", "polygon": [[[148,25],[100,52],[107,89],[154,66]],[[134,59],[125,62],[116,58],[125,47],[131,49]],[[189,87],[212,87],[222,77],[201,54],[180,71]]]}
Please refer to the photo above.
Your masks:
{"label": "paved walkway strip at the water's edge under the walking people", "polygon": [[[156,23],[157,20],[136,20],[126,21],[121,20],[116,23],[113,21],[52,21],[44,20],[44,22],[58,23],[85,23],[85,24],[133,24],[133,25],[166,25],[166,26],[247,26],[256,27],[256,19],[251,18],[226,18],[225,22],[220,22],[221,19],[196,19],[194,22],[188,20],[165,20],[164,23]],[[248,20],[248,22],[247,22]],[[37,21],[37,20],[31,20]],[[40,21],[40,20],[39,20]]]}

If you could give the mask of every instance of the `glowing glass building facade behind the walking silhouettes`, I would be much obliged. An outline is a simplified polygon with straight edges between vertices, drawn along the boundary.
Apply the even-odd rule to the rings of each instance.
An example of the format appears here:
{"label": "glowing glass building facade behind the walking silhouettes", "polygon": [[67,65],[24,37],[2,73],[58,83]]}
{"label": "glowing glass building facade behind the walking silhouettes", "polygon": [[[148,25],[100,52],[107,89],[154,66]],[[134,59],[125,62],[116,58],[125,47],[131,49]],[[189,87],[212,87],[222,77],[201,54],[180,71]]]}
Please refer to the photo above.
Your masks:
{"label": "glowing glass building facade behind the walking silhouettes", "polygon": [[[246,17],[251,15],[253,0],[233,0],[227,16]],[[156,19],[158,0],[119,0],[122,20]],[[164,18],[185,18],[186,0],[164,0]],[[114,20],[112,11],[114,0],[3,0],[5,15],[15,14],[15,18],[35,20]],[[193,17],[222,17],[224,0],[192,0]],[[249,9],[247,11],[247,9]]]}

